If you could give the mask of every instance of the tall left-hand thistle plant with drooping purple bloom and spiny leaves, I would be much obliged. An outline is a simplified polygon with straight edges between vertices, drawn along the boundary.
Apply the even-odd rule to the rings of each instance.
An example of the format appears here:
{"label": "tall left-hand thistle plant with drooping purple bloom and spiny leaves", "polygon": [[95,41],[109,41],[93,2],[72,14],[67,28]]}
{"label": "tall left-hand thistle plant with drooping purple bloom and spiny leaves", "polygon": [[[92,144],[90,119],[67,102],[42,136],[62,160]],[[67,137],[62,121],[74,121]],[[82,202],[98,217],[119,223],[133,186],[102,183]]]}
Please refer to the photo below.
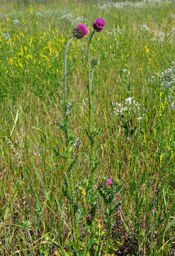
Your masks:
{"label": "tall left-hand thistle plant with drooping purple bloom and spiny leaves", "polygon": [[64,125],[60,125],[57,122],[56,124],[60,129],[63,130],[65,134],[65,145],[63,147],[63,155],[60,155],[59,152],[57,152],[57,155],[63,158],[67,162],[67,176],[68,176],[69,182],[66,177],[64,177],[64,179],[66,183],[66,188],[69,187],[70,193],[67,193],[67,191],[64,191],[64,193],[68,197],[71,203],[71,207],[72,207],[71,210],[73,212],[72,221],[74,221],[75,232],[76,232],[76,236],[74,236],[75,243],[78,244],[78,251],[80,252],[79,227],[78,227],[78,219],[76,216],[76,213],[77,213],[76,209],[78,207],[76,207],[74,181],[73,181],[73,170],[78,161],[77,160],[78,157],[73,158],[73,156],[71,156],[72,149],[77,145],[79,138],[75,140],[76,136],[74,136],[74,134],[70,132],[71,122],[69,122],[69,115],[70,115],[70,110],[73,107],[74,101],[71,103],[66,94],[66,77],[69,73],[69,72],[67,73],[67,70],[66,70],[66,60],[67,60],[67,51],[68,51],[70,42],[75,37],[77,39],[82,39],[85,35],[87,35],[88,31],[84,24],[79,24],[78,26],[73,28],[72,33],[73,33],[73,36],[70,38],[69,42],[67,43],[66,50],[65,50],[65,57],[64,57],[64,86],[63,86],[64,97],[61,97],[61,95],[57,93],[58,97],[62,99],[60,106],[64,111]]}

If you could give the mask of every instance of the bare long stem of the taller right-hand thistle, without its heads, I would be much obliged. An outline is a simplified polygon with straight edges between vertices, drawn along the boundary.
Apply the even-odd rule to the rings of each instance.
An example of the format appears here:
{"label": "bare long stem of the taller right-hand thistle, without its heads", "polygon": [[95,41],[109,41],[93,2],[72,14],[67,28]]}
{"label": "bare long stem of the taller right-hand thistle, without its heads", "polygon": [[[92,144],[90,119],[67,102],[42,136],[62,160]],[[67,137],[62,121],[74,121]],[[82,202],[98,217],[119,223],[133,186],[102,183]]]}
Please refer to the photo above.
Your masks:
{"label": "bare long stem of the taller right-hand thistle, without its heads", "polygon": [[[90,42],[92,39],[93,34],[95,33],[95,30],[93,30],[89,42],[88,42],[88,47],[87,47],[87,68],[88,68],[88,100],[89,100],[89,128],[90,128],[90,133],[91,133],[91,151],[92,151],[92,195],[93,195],[93,202],[92,202],[92,225],[93,225],[93,231],[95,231],[95,169],[94,169],[94,138],[93,138],[93,133],[92,133],[92,98],[91,98],[91,93],[92,93],[92,76],[93,73],[91,74],[90,77],[90,58],[89,58],[89,50],[90,50]],[[93,66],[94,70],[94,66]]]}

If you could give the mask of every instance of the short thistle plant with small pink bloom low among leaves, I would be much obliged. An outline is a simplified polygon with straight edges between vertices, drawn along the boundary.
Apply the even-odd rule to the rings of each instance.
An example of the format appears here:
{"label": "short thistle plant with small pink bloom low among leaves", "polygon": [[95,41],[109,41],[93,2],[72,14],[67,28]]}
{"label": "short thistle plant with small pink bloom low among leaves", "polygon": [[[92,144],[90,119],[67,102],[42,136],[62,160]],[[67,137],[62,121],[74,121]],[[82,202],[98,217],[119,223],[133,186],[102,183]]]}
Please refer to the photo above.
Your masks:
{"label": "short thistle plant with small pink bloom low among leaves", "polygon": [[117,210],[122,204],[122,201],[120,201],[116,205],[114,205],[114,199],[118,192],[122,189],[124,183],[120,184],[120,181],[118,179],[115,179],[112,182],[112,180],[107,179],[106,176],[103,177],[102,180],[103,182],[99,184],[98,192],[101,198],[104,200],[106,206],[107,238],[105,251],[107,254],[110,245],[111,228],[114,225],[112,222],[112,215],[114,214],[115,210]]}

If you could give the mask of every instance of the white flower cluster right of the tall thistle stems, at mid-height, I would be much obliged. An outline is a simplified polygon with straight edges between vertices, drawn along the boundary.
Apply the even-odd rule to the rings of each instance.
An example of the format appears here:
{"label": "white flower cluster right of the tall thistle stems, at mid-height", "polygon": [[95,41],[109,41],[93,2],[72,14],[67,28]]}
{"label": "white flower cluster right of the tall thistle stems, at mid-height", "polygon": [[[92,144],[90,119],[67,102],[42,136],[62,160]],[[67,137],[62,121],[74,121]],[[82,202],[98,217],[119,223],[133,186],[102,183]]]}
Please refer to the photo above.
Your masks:
{"label": "white flower cluster right of the tall thistle stems, at mid-height", "polygon": [[133,100],[134,97],[129,97],[128,99],[125,100],[125,102],[122,101],[122,103],[118,102],[112,102],[112,107],[114,109],[114,114],[116,115],[126,115],[127,112],[130,114],[131,108],[136,111],[139,111],[140,104],[139,102],[135,103],[135,100]]}

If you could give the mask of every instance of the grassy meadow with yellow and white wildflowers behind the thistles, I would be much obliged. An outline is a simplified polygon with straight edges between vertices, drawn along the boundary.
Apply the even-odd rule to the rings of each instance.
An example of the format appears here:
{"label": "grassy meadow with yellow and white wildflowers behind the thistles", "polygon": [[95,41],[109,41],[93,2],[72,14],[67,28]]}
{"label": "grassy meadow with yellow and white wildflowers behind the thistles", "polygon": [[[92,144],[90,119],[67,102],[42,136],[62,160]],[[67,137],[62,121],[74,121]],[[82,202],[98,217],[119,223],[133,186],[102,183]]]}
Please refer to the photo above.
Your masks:
{"label": "grassy meadow with yellow and white wildflowers behind the thistles", "polygon": [[[71,0],[0,3],[1,255],[44,255],[46,248],[48,255],[58,255],[58,241],[65,255],[73,255],[70,209],[62,193],[65,163],[55,153],[64,143],[53,122],[63,118],[56,92],[63,93],[71,30],[84,23],[87,38],[73,40],[67,57],[68,70],[74,66],[67,77],[75,100],[72,131],[79,137],[76,186],[90,168],[80,152],[89,150],[80,121],[87,123],[86,52],[98,17],[106,24],[90,47],[101,61],[93,80],[94,125],[101,132],[96,140],[104,139],[96,188],[105,174],[126,182],[125,203],[113,216],[114,236],[123,238],[115,255],[175,253],[173,72],[170,85],[161,76],[175,59],[174,1]],[[134,98],[125,101],[129,97]],[[102,222],[104,207],[99,200]]]}

